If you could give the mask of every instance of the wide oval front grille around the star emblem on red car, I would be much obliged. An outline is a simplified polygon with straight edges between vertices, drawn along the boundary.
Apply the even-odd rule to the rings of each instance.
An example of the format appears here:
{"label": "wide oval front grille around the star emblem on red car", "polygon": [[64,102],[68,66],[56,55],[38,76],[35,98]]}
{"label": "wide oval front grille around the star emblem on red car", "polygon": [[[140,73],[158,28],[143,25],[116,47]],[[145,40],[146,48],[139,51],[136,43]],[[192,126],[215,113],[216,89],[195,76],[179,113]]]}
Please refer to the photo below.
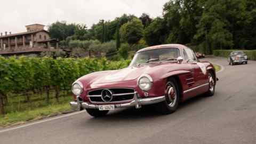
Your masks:
{"label": "wide oval front grille around the star emblem on red car", "polygon": [[[102,98],[102,91],[109,91],[109,96],[111,96],[110,101],[105,101]],[[89,99],[92,102],[105,103],[105,102],[119,102],[132,100],[134,97],[134,90],[127,88],[109,88],[109,89],[98,89],[88,92]]]}

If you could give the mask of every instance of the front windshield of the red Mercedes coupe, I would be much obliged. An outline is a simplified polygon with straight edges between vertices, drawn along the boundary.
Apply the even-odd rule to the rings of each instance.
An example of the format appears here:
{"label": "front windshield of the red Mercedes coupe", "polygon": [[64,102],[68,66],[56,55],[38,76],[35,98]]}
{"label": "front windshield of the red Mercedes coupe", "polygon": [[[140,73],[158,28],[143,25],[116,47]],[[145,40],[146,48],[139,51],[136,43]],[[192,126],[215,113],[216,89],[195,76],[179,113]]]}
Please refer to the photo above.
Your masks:
{"label": "front windshield of the red Mercedes coupe", "polygon": [[157,61],[173,61],[180,57],[180,50],[177,48],[163,48],[148,50],[136,53],[130,66]]}

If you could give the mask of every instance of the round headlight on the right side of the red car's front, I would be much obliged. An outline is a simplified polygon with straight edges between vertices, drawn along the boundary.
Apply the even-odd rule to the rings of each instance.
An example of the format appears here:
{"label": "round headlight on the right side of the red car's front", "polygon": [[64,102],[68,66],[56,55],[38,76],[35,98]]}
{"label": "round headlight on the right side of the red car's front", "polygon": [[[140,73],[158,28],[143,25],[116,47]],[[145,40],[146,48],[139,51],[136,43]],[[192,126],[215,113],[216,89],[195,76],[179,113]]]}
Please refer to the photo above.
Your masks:
{"label": "round headlight on the right side of the red car's front", "polygon": [[138,85],[141,90],[148,91],[153,85],[153,79],[149,75],[143,74],[138,79]]}

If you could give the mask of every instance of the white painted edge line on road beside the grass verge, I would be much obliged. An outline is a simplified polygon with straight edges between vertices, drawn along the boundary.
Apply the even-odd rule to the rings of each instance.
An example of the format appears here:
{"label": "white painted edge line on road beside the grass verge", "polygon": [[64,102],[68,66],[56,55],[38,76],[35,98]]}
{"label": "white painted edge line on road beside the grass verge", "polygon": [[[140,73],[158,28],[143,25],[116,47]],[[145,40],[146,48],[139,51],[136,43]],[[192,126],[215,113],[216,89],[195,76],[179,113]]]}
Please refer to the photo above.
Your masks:
{"label": "white painted edge line on road beside the grass verge", "polygon": [[55,119],[60,119],[60,118],[64,118],[64,117],[69,117],[69,116],[81,114],[81,113],[84,113],[84,112],[85,112],[85,110],[77,111],[77,112],[70,113],[70,114],[67,114],[67,115],[62,115],[62,116],[53,117],[53,118],[50,118],[50,119],[45,119],[45,120],[42,120],[42,121],[34,122],[34,123],[29,123],[29,124],[25,124],[25,125],[21,125],[21,126],[17,126],[17,127],[12,127],[10,129],[4,129],[2,131],[0,130],[0,133],[7,132],[7,131],[12,131],[12,130],[17,130],[17,129],[20,129],[22,127],[27,127],[27,126],[31,126],[31,125],[35,125],[35,124],[41,124],[41,123],[44,123],[44,122],[53,121]]}

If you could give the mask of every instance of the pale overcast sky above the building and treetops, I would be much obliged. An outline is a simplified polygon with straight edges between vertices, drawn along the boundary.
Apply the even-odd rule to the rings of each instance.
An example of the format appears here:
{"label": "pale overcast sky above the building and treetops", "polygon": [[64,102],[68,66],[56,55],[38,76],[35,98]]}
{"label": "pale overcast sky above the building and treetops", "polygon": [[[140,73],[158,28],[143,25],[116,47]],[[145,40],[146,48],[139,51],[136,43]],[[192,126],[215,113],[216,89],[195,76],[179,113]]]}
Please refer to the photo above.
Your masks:
{"label": "pale overcast sky above the building and treetops", "polygon": [[123,13],[137,17],[144,12],[150,17],[162,15],[168,0],[7,0],[0,6],[0,32],[26,31],[32,23],[50,25],[57,20],[92,26],[100,19],[113,20]]}

